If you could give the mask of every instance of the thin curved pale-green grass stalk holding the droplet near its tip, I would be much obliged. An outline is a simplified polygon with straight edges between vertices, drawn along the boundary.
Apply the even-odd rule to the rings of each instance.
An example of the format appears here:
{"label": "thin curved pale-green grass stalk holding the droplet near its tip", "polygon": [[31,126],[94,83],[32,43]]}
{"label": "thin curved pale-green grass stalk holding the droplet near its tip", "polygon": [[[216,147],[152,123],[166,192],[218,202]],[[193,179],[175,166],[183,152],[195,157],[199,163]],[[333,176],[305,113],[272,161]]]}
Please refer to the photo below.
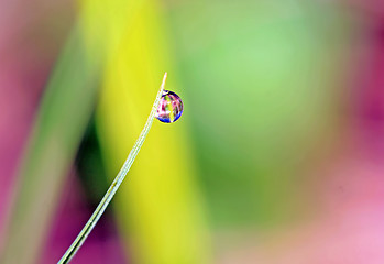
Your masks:
{"label": "thin curved pale-green grass stalk holding the droplet near its tip", "polygon": [[124,164],[122,165],[120,172],[118,173],[118,175],[113,179],[111,186],[108,188],[106,195],[102,197],[100,204],[95,209],[95,211],[94,211],[92,216],[89,218],[88,222],[84,226],[84,228],[81,229],[80,233],[77,235],[75,241],[68,248],[68,250],[64,253],[64,255],[57,262],[57,264],[69,263],[70,260],[75,256],[77,251],[83,245],[84,241],[88,238],[89,233],[92,231],[92,229],[95,228],[96,223],[98,222],[98,220],[100,219],[100,217],[105,212],[107,206],[109,205],[109,202],[113,198],[113,196],[114,196],[116,191],[118,190],[119,186],[121,185],[121,183],[125,178],[127,173],[130,170],[131,165],[134,162],[134,158],[136,157],[141,146],[143,145],[143,143],[145,141],[145,138],[146,138],[147,133],[150,132],[151,125],[153,123],[153,119],[155,117],[155,113],[156,113],[156,110],[157,110],[157,107],[158,107],[160,99],[161,99],[163,90],[164,90],[166,77],[167,77],[167,74],[165,73],[164,77],[163,77],[163,82],[162,82],[162,85],[160,87],[160,90],[158,90],[156,99],[155,99],[155,101],[153,103],[150,117],[146,120],[144,129],[140,133],[139,139],[134,143],[134,145],[133,145],[130,154],[128,155]]}

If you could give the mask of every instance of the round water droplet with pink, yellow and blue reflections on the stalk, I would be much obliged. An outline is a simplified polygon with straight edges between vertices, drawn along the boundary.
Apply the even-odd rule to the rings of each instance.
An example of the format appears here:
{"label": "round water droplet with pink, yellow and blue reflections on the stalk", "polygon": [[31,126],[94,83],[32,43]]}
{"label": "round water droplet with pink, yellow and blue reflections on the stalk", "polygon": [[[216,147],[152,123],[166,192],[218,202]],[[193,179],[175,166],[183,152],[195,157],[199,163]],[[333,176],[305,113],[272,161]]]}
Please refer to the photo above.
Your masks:
{"label": "round water droplet with pink, yellow and blue reflections on the stalk", "polygon": [[173,123],[182,117],[183,101],[173,91],[164,90],[158,103],[156,119],[164,123]]}

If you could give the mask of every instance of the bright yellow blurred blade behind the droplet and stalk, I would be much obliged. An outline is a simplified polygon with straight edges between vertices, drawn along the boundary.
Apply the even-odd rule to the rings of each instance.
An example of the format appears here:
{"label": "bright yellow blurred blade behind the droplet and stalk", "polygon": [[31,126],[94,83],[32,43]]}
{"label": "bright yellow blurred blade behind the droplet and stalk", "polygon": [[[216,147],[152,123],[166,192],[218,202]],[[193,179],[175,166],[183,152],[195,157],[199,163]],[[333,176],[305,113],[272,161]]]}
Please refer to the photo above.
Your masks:
{"label": "bright yellow blurred blade behind the droplet and stalk", "polygon": [[[145,1],[131,15],[131,26],[108,53],[97,114],[110,176],[140,133],[153,87],[165,69],[171,73],[166,89],[177,90],[156,3]],[[117,195],[120,227],[133,241],[138,263],[206,263],[206,234],[184,120],[155,123],[152,130]]]}

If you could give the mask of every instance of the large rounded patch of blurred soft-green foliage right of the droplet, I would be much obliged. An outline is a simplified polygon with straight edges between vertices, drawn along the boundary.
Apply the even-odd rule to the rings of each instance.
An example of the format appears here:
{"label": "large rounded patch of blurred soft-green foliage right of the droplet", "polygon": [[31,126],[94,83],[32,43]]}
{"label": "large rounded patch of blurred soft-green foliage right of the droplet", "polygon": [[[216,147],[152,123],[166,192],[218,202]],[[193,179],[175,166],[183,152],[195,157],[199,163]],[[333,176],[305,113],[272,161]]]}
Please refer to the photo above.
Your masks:
{"label": "large rounded patch of blurred soft-green foliage right of the droplet", "polygon": [[333,122],[348,28],[321,4],[200,4],[176,6],[171,24],[212,219],[285,222],[307,200],[297,168]]}

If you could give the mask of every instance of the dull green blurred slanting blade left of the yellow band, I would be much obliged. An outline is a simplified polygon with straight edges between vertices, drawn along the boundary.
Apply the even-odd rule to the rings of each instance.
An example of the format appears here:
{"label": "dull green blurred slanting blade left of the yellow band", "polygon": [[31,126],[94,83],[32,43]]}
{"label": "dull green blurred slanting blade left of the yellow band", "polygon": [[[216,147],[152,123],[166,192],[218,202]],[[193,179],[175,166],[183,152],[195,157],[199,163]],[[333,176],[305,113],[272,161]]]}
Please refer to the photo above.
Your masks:
{"label": "dull green blurred slanting blade left of the yellow band", "polygon": [[2,263],[39,260],[64,177],[91,114],[97,67],[88,64],[81,34],[74,30],[48,82],[19,172]]}

